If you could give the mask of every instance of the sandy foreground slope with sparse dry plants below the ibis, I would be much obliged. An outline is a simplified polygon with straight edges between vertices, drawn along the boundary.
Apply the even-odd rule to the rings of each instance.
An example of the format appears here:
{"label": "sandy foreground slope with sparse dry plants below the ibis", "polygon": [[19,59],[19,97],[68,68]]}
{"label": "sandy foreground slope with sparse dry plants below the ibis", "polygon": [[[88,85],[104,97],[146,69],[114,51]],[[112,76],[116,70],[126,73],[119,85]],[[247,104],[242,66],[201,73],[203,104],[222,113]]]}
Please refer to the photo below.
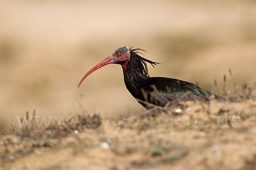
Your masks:
{"label": "sandy foreground slope with sparse dry plants below the ibis", "polygon": [[0,168],[256,169],[255,99],[188,101],[119,120],[80,115],[80,125],[71,119],[67,128],[17,128],[2,136]]}

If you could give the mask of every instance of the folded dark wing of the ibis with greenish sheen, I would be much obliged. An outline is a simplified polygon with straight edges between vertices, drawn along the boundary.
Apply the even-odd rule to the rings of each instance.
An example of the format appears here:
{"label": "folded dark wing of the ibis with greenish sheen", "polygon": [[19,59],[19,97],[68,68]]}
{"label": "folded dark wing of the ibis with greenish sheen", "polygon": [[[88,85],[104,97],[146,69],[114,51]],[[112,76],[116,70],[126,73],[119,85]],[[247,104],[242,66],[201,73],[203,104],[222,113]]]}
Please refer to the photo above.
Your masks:
{"label": "folded dark wing of the ibis with greenish sheen", "polygon": [[164,106],[168,101],[210,96],[208,91],[191,82],[165,77],[151,77],[148,87],[148,101]]}

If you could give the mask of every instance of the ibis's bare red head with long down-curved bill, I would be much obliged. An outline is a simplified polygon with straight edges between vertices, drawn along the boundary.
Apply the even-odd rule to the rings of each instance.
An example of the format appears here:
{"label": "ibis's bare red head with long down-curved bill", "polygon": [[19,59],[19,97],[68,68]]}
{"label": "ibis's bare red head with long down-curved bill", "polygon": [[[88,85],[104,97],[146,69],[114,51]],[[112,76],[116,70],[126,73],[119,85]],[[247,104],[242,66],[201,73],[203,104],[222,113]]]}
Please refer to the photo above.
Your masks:
{"label": "ibis's bare red head with long down-curved bill", "polygon": [[99,68],[102,68],[105,65],[108,64],[120,64],[122,65],[123,69],[126,68],[126,64],[130,60],[130,49],[127,46],[118,48],[116,51],[114,51],[109,57],[105,58],[102,62],[95,65],[90,71],[87,72],[87,74],[84,75],[84,77],[79,82],[78,87],[82,84],[84,79],[88,77],[93,71],[98,70]]}

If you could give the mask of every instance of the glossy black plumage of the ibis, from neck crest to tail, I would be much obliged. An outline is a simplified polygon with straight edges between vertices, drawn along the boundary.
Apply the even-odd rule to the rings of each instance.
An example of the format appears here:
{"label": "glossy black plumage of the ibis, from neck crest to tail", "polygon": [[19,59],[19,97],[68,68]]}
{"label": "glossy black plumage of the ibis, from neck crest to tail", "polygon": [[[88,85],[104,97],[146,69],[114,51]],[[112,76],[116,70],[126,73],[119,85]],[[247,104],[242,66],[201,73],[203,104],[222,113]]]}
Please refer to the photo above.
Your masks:
{"label": "glossy black plumage of the ibis, from neck crest to tail", "polygon": [[[140,48],[130,48],[131,58],[124,73],[126,88],[134,98],[154,105],[165,106],[167,102],[177,99],[210,96],[208,91],[191,82],[166,77],[149,77],[147,62],[153,67],[160,63],[141,57],[140,51],[145,52]],[[140,104],[146,107],[145,103],[140,102]]]}

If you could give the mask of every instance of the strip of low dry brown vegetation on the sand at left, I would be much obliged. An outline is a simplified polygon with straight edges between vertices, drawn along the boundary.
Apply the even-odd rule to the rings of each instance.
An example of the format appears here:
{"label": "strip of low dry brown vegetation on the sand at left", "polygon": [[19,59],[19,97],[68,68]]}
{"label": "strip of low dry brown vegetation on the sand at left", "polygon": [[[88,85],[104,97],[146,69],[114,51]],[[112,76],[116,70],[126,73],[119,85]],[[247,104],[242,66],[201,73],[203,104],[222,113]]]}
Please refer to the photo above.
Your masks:
{"label": "strip of low dry brown vegetation on the sand at left", "polygon": [[[101,117],[97,114],[77,115],[67,117],[63,122],[55,122],[49,127],[37,127],[35,122],[35,111],[29,120],[29,112],[26,112],[26,122],[22,127],[17,127],[12,121],[12,130],[3,132],[0,140],[1,162],[12,161],[23,154],[31,153],[37,147],[58,147],[62,140],[68,135],[76,136],[81,131],[97,128],[101,125]],[[21,122],[23,122],[21,119]],[[79,139],[78,136],[76,136]]]}

